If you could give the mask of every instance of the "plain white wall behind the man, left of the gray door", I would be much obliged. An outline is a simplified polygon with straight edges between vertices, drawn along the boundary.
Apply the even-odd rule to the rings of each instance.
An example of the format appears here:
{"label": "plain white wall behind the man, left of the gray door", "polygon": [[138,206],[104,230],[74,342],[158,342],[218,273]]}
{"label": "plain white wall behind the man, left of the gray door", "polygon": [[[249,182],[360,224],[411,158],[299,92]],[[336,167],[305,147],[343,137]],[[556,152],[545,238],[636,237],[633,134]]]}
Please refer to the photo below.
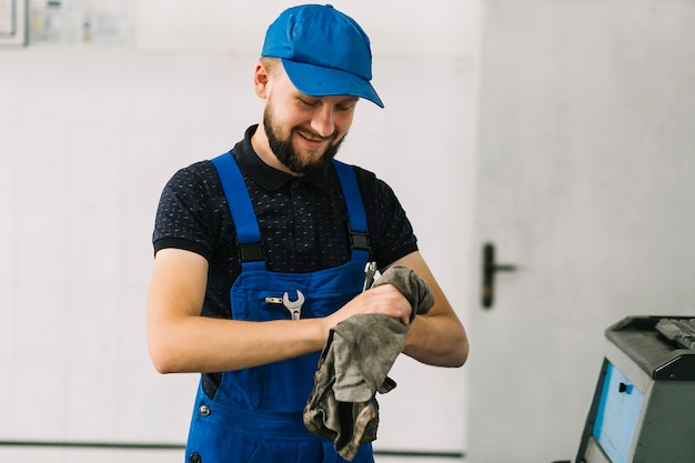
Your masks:
{"label": "plain white wall behind the man, left of the gray door", "polygon": [[[197,378],[158,375],[144,339],[154,210],[175,169],[228,150],[259,120],[252,67],[265,27],[290,4],[140,2],[130,46],[0,50],[0,440],[184,441]],[[361,104],[341,157],[396,190],[465,319],[476,2],[334,4],[370,33],[386,104]],[[379,443],[464,451],[463,375],[399,361]],[[427,397],[416,421],[413,396]],[[94,453],[0,446],[0,461],[10,457]]]}

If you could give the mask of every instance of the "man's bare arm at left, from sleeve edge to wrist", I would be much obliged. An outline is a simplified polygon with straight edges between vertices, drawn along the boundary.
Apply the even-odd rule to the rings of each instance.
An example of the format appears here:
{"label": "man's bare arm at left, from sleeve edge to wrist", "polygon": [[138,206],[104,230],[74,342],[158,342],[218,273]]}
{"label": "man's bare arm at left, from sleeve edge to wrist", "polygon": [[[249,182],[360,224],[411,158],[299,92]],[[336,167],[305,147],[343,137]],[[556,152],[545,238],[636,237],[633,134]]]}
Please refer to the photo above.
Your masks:
{"label": "man's bare arm at left, from sleeve edge to wrist", "polygon": [[148,298],[148,342],[158,371],[219,372],[291,359],[322,349],[325,320],[246,322],[201,316],[208,262],[164,249]]}

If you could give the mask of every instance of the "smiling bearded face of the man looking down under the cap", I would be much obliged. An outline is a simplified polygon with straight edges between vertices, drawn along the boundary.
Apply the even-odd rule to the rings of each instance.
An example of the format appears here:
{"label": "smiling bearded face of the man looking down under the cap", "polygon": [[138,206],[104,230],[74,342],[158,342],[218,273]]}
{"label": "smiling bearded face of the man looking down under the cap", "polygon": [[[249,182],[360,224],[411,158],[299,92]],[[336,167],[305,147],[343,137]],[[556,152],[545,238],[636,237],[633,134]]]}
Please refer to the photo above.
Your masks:
{"label": "smiling bearded face of the man looking down under the cap", "polygon": [[[324,168],[345,139],[359,99],[304,94],[294,88],[280,63],[261,79],[259,71],[256,67],[256,94],[265,99],[266,148],[291,173],[303,175]],[[263,82],[261,92],[259,82]],[[259,154],[263,158],[263,153]]]}

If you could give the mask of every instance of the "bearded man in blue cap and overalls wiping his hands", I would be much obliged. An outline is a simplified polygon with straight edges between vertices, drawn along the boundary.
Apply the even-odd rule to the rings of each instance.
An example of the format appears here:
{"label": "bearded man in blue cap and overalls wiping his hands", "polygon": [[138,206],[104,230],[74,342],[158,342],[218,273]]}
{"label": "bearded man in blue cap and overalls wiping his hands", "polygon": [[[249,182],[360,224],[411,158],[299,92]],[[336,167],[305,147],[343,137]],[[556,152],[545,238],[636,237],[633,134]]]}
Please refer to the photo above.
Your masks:
{"label": "bearded man in blue cap and overalls wiping his hands", "polygon": [[[403,352],[460,366],[465,331],[392,190],[333,161],[370,80],[370,42],[331,6],[285,10],[253,76],[260,124],[213,161],[179,171],[160,200],[148,336],[161,373],[201,372],[188,462],[340,462],[302,409],[332,328],[377,313],[407,324],[391,284],[369,286],[367,261],[401,264],[435,299],[412,321]],[[370,444],[356,462],[372,462]]]}

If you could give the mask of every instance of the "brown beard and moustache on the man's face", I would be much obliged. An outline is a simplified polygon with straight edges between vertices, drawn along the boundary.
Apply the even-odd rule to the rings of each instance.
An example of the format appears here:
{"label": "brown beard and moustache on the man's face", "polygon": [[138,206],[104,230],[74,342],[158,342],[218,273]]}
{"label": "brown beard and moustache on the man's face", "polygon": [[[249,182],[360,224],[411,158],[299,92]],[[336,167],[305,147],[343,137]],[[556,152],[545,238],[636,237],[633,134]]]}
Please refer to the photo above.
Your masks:
{"label": "brown beard and moustache on the man's face", "polygon": [[[265,135],[268,137],[270,149],[273,151],[278,160],[292,172],[300,175],[305,175],[310,172],[325,169],[331,161],[333,161],[340,145],[345,140],[345,137],[340,140],[336,140],[335,137],[333,137],[333,140],[319,159],[309,160],[303,159],[292,145],[292,134],[298,132],[296,128],[293,128],[290,131],[286,139],[283,140],[280,138],[278,131],[275,130],[275,124],[273,123],[270,104],[265,108],[265,111],[263,111],[263,128],[265,129]],[[311,132],[311,130],[303,131]]]}

